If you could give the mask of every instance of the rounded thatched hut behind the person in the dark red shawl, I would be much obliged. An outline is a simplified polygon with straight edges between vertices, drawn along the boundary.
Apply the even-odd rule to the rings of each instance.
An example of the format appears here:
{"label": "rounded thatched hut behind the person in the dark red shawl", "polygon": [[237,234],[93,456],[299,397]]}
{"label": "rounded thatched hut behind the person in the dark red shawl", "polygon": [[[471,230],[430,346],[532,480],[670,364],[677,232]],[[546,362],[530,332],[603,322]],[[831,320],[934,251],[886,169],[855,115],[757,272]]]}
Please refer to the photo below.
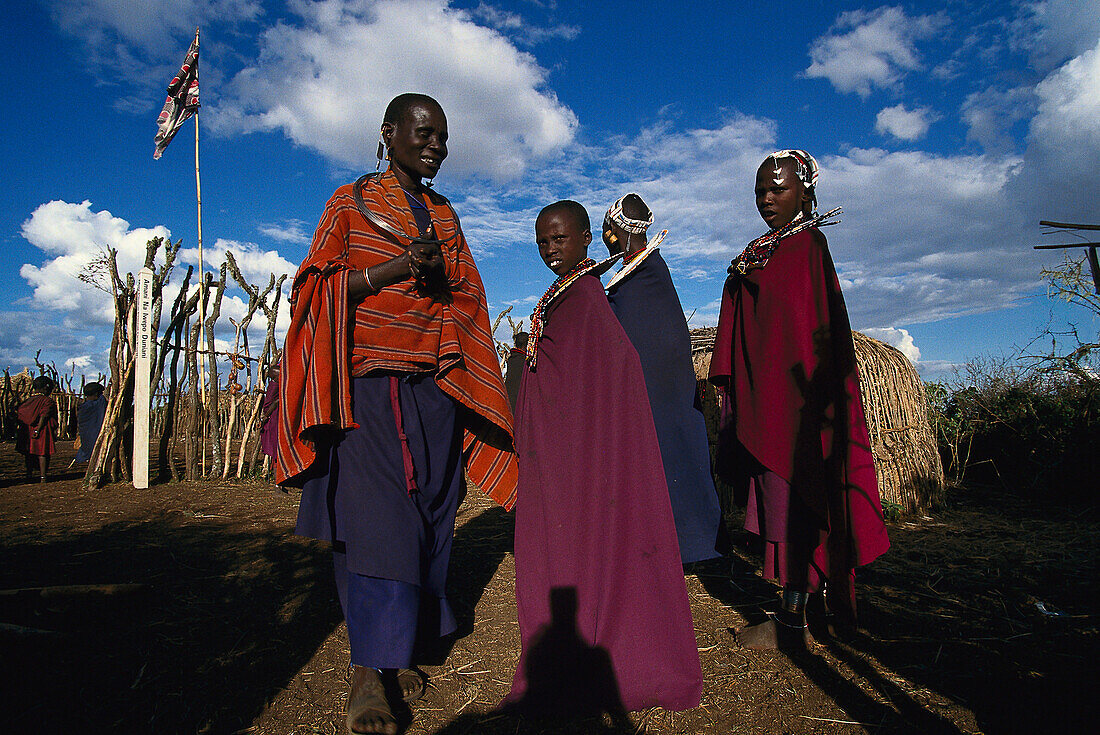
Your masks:
{"label": "rounded thatched hut behind the person in the dark red shawl", "polygon": [[[716,395],[706,383],[706,375],[715,331],[708,327],[691,332],[692,361],[712,442]],[[882,501],[902,513],[926,511],[943,497],[944,468],[928,416],[924,383],[913,363],[894,348],[860,332],[854,331],[851,336]]]}

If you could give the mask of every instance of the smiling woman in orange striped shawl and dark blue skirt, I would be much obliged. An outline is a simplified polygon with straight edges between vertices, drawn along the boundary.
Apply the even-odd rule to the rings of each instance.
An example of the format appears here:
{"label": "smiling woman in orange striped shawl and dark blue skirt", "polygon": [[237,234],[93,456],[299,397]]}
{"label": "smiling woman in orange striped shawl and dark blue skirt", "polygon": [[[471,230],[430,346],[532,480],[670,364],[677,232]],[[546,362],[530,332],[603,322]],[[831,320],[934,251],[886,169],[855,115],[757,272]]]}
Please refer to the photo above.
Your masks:
{"label": "smiling woman in orange striped shawl and dark blue skirt", "polygon": [[481,276],[450,202],[424,95],[386,109],[389,166],[337,189],[290,294],[276,480],[302,486],[297,533],[332,541],[351,638],[348,728],[396,733],[385,698],[424,691],[418,639],[454,630],[444,596],[462,472],[505,507],[516,456]]}

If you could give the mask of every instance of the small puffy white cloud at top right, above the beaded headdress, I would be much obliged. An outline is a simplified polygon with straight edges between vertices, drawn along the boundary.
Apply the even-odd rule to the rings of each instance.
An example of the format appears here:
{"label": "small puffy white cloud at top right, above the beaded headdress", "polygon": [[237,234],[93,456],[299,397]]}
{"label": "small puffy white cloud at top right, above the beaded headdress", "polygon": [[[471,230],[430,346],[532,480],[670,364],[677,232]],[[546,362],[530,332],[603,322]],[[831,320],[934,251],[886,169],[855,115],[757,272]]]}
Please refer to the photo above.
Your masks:
{"label": "small puffy white cloud at top right, above the beaded headdress", "polygon": [[915,42],[944,24],[941,15],[911,18],[899,7],[840,13],[829,32],[814,41],[804,74],[866,98],[872,88],[897,87],[908,73],[922,68]]}

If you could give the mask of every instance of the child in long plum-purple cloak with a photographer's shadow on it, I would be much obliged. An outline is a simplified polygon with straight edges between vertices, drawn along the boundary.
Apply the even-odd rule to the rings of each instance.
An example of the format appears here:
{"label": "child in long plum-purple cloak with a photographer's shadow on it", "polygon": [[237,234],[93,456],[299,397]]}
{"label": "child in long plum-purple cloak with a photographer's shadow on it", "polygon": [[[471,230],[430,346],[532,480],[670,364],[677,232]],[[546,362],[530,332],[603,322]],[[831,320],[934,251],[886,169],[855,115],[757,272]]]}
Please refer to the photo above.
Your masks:
{"label": "child in long plum-purple cloak with a photographer's shadow on it", "polygon": [[560,277],[531,317],[516,405],[516,603],[508,701],[549,714],[662,706],[702,689],[664,470],[638,353],[588,260],[588,216],[544,208]]}

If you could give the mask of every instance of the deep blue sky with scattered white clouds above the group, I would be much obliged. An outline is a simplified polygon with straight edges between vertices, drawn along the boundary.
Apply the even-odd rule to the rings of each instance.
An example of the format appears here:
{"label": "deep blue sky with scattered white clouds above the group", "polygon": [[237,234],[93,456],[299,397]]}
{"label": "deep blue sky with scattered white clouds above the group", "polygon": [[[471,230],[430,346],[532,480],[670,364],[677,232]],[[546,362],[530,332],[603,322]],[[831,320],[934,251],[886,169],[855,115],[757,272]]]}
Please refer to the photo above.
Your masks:
{"label": "deep blue sky with scattered white clouds above the group", "polygon": [[[0,366],[41,348],[103,369],[111,307],[76,274],[105,246],[136,271],[170,234],[196,262],[193,123],[152,156],[196,28],[208,268],[231,249],[253,283],[293,274],[332,190],[374,169],[386,102],[424,91],[494,314],[527,317],[553,278],[542,205],[598,221],[632,190],[692,325],[714,323],[765,229],[756,168],[801,147],[823,209],[845,208],[827,234],[853,326],[926,377],[1097,329],[1046,298],[1062,255],[1031,245],[1068,241],[1040,219],[1100,222],[1100,0],[24,0],[0,25]],[[241,312],[238,293],[223,314]]]}

